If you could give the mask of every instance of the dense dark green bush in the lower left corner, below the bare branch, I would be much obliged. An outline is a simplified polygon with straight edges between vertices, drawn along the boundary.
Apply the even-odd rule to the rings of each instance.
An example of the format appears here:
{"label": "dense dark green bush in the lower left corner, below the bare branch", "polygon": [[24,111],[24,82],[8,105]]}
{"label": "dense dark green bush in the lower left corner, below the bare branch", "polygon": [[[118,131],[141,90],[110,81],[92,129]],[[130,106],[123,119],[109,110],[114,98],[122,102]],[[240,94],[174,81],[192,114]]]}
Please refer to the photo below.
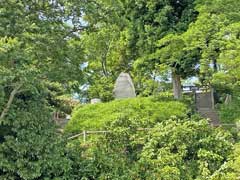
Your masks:
{"label": "dense dark green bush in the lower left corner, below the bare branch", "polygon": [[12,106],[0,144],[1,179],[64,179],[71,161],[65,142],[56,134],[42,94],[19,94]]}

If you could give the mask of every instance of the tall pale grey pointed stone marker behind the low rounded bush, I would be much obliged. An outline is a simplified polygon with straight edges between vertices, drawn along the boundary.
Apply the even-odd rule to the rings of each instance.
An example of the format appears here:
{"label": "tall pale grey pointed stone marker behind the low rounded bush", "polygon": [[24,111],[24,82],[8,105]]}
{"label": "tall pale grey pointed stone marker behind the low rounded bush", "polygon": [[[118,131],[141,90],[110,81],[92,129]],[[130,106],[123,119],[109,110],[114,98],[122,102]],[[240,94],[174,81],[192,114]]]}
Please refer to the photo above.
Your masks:
{"label": "tall pale grey pointed stone marker behind the low rounded bush", "polygon": [[121,73],[115,83],[113,94],[115,99],[136,97],[132,79],[128,73]]}

